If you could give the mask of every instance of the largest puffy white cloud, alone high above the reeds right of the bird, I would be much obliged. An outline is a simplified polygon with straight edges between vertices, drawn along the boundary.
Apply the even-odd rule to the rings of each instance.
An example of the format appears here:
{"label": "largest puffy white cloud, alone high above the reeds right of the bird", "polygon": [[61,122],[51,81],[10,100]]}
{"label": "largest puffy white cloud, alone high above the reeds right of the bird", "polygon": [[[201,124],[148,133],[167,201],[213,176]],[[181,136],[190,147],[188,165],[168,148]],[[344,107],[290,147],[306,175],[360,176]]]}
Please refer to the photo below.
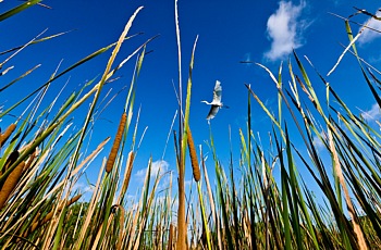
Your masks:
{"label": "largest puffy white cloud, alone high above the reeds right of the bird", "polygon": [[304,0],[298,5],[291,1],[280,1],[279,9],[270,15],[267,22],[267,33],[271,40],[271,49],[265,53],[265,58],[275,61],[290,54],[293,49],[302,46],[303,29],[308,24],[298,17],[305,9]]}

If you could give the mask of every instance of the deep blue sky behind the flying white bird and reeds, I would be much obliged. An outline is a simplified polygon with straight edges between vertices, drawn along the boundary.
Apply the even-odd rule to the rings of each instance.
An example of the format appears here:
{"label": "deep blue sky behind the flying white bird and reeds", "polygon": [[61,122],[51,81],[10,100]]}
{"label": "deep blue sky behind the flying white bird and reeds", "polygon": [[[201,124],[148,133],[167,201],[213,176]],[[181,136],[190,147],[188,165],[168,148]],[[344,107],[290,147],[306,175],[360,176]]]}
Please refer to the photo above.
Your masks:
{"label": "deep blue sky behind the flying white bird and reeds", "polygon": [[[0,10],[3,12],[20,3],[20,1],[3,0],[0,2]],[[10,82],[38,63],[41,66],[28,79],[20,82],[12,88],[12,91],[0,93],[1,102],[7,100],[4,105],[10,105],[45,83],[61,60],[63,60],[60,66],[62,70],[99,48],[114,42],[132,13],[138,7],[144,5],[144,10],[137,15],[130,33],[132,35],[143,32],[144,34],[124,42],[116,58],[116,62],[120,62],[142,42],[152,36],[160,35],[148,45],[147,50],[152,50],[152,52],[145,58],[137,83],[136,112],[133,121],[136,120],[137,108],[142,107],[138,136],[143,135],[145,128],[147,130],[134,166],[134,176],[136,177],[134,182],[139,185],[139,177],[147,166],[149,157],[152,157],[155,162],[163,160],[163,171],[173,170],[176,174],[172,135],[165,155],[161,159],[171,123],[177,110],[176,96],[172,85],[172,82],[177,85],[179,79],[174,1],[46,0],[44,3],[52,9],[35,5],[0,23],[2,30],[0,51],[23,45],[46,28],[48,30],[44,36],[75,30],[47,42],[32,46],[17,54],[13,60],[17,64],[2,77],[4,80],[2,84]],[[295,49],[300,58],[307,55],[319,72],[327,75],[344,50],[340,43],[348,43],[343,20],[329,14],[329,12],[346,17],[355,12],[353,7],[366,9],[371,13],[380,8],[377,1],[344,0],[179,1],[183,83],[186,83],[194,40],[197,35],[199,36],[193,72],[190,127],[196,145],[202,145],[204,152],[209,153],[208,161],[211,172],[213,172],[211,152],[206,143],[209,140],[209,126],[205,120],[209,107],[200,101],[211,101],[216,80],[219,79],[222,83],[223,102],[230,107],[230,109],[221,110],[211,121],[217,153],[222,164],[228,166],[229,127],[231,127],[232,145],[235,148],[234,164],[238,166],[238,129],[245,129],[247,122],[247,89],[244,84],[250,84],[261,100],[270,109],[276,111],[276,89],[269,75],[256,65],[239,62],[258,62],[276,74],[280,63],[282,61],[286,63],[292,50]],[[353,20],[364,23],[367,17],[359,15]],[[370,25],[381,29],[381,22],[374,22]],[[359,29],[357,25],[352,27],[354,32]],[[376,67],[380,67],[380,37],[374,32],[366,30],[357,42],[360,55]],[[67,87],[63,92],[62,100],[73,89],[78,89],[78,86],[86,80],[99,77],[106,67],[108,57],[109,54],[105,54],[82,65],[54,83],[49,89],[46,102],[49,103],[65,83],[67,83]],[[5,57],[2,55],[2,60],[4,59]],[[304,64],[308,65],[306,61]],[[11,65],[5,64],[3,68]],[[113,96],[123,86],[128,86],[133,66],[134,61],[122,68],[118,74],[121,78],[108,85],[105,92],[111,89],[111,96]],[[287,83],[286,64],[283,68],[284,83]],[[310,67],[308,70],[314,75],[314,70]],[[346,54],[339,67],[327,79],[352,109],[358,109],[358,112],[369,112],[370,120],[380,121],[380,111],[374,107],[374,101],[369,98],[370,92],[362,84],[360,71],[354,57]],[[361,80],[361,85],[358,84],[359,80]],[[324,95],[325,89],[321,88],[319,91],[320,95]],[[95,145],[107,136],[114,136],[125,96],[126,90],[119,93],[108,110],[100,115],[93,136]],[[251,112],[253,130],[266,140],[268,132],[271,130],[270,121],[255,101],[253,101]],[[1,125],[1,127],[3,126]],[[107,155],[108,149],[103,153]],[[96,165],[90,167],[97,168]],[[97,173],[97,171],[91,171],[91,173]],[[91,173],[89,176],[95,178],[96,175],[93,176]],[[187,179],[190,178],[192,175],[187,173]]]}

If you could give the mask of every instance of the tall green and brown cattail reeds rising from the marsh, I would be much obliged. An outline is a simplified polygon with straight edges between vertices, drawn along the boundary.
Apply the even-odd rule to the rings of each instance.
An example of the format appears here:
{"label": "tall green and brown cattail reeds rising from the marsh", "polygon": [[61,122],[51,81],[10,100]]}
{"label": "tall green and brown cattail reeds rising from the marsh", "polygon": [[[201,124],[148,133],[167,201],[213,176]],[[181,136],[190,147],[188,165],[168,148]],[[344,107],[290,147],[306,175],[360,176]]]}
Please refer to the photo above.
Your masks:
{"label": "tall green and brown cattail reeds rising from the marsh", "polygon": [[[29,0],[0,14],[0,22],[37,3],[38,0]],[[34,98],[20,118],[1,124],[7,127],[0,134],[1,249],[380,249],[380,124],[371,124],[361,114],[348,109],[332,85],[308,60],[300,60],[296,52],[293,61],[287,63],[287,72],[284,73],[281,65],[278,76],[258,64],[278,90],[276,115],[263,104],[250,85],[246,85],[248,123],[247,127],[239,129],[241,143],[232,146],[241,149],[238,164],[235,165],[237,161],[233,159],[233,153],[228,163],[219,160],[211,126],[208,148],[211,161],[206,160],[201,146],[197,150],[197,141],[190,133],[196,38],[185,100],[182,97],[183,73],[179,68],[181,116],[179,130],[174,133],[179,173],[159,173],[151,178],[152,159],[149,159],[145,183],[138,192],[140,198],[134,201],[127,199],[132,172],[143,167],[134,162],[138,158],[135,149],[138,117],[132,133],[130,126],[135,117],[136,84],[146,46],[151,39],[133,50],[116,66],[112,65],[122,43],[128,46],[128,39],[134,37],[127,37],[127,34],[142,9],[131,16],[115,43],[54,73],[49,82],[1,110],[0,118],[11,115],[15,108],[24,107],[30,97]],[[181,65],[177,12],[175,18]],[[354,54],[364,75],[364,83],[358,83],[364,86],[359,87],[369,88],[380,108],[381,82],[358,55],[352,42],[349,22],[346,20],[345,24],[349,40],[346,51]],[[35,39],[33,43],[53,37],[57,36]],[[27,49],[30,45],[22,48]],[[94,79],[81,91],[73,92],[57,113],[51,111],[56,102],[40,111],[39,105],[49,85],[110,50],[110,60],[98,83]],[[10,49],[4,54],[12,51]],[[95,147],[91,153],[82,155],[87,152],[84,141],[90,137],[89,124],[100,109],[98,98],[105,83],[125,63],[131,63],[132,58],[136,58],[135,71],[125,105],[120,110],[122,115],[118,130],[115,127],[115,134],[106,135],[103,141],[93,140]],[[9,67],[5,73],[8,71]],[[285,76],[291,79],[290,86],[282,83]],[[29,77],[29,72],[4,84],[0,95],[23,77]],[[322,87],[327,89],[327,95],[319,97],[316,89]],[[75,110],[91,98],[87,116],[83,121],[78,116],[72,118]],[[259,104],[272,122],[268,148],[263,148],[251,129],[254,104]],[[48,114],[50,120],[46,118]],[[286,115],[291,118],[284,120]],[[85,126],[73,129],[74,123]],[[36,128],[37,124],[40,127]],[[293,133],[290,133],[291,129]],[[109,158],[99,165],[90,198],[84,199],[84,190],[75,188],[75,184],[113,136],[113,145],[107,152]],[[302,138],[303,143],[295,143],[295,138]],[[65,142],[60,143],[61,139]],[[322,149],[316,145],[317,140],[328,152],[328,159],[320,154]],[[132,141],[131,147],[127,141]],[[196,186],[196,192],[193,188],[189,191],[185,189],[185,170],[189,163],[195,180],[192,187]],[[209,179],[211,170],[216,175],[216,186]],[[309,173],[321,199],[316,198],[316,190],[310,189],[300,170]],[[279,179],[274,177],[275,171],[280,173]],[[173,176],[179,176],[176,185],[172,185]],[[169,177],[169,186],[159,190],[164,177]],[[174,187],[177,187],[175,192],[172,191]]]}

